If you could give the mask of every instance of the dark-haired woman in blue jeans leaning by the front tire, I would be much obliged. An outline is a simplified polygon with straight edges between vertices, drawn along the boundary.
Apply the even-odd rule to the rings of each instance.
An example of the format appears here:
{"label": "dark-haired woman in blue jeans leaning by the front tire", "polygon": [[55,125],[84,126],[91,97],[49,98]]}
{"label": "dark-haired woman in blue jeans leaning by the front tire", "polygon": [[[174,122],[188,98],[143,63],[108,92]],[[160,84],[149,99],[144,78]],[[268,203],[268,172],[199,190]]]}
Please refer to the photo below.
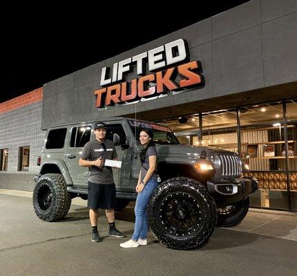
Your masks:
{"label": "dark-haired woman in blue jeans leaning by the front tire", "polygon": [[140,143],[144,146],[144,149],[140,152],[142,168],[136,186],[138,195],[135,204],[134,233],[132,239],[119,245],[122,248],[146,246],[148,232],[146,206],[158,184],[155,172],[157,168],[157,150],[155,150],[153,144],[153,131],[147,128],[143,129],[140,132]]}

